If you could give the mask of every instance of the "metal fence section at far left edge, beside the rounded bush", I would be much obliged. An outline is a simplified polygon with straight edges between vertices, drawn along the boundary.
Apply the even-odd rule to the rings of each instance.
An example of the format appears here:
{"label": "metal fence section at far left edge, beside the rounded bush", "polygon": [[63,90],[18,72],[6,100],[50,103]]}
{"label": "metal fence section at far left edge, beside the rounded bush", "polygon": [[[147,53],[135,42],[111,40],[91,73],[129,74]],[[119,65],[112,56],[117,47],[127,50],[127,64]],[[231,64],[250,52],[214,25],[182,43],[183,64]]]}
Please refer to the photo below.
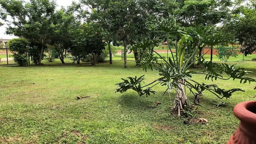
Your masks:
{"label": "metal fence section at far left edge, beside the rounded bush", "polygon": [[0,49],[0,65],[16,64],[9,49]]}

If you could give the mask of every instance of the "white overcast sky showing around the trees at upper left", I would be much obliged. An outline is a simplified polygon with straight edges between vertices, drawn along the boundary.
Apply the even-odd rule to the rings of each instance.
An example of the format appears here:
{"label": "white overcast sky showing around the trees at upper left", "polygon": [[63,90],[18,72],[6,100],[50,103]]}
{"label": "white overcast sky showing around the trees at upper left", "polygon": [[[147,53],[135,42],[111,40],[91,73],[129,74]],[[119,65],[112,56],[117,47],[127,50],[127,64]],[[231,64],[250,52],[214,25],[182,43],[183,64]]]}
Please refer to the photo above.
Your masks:
{"label": "white overcast sky showing around the trees at upper left", "polygon": [[[25,0],[25,1],[29,1],[29,0]],[[56,3],[58,5],[57,9],[60,9],[60,6],[69,6],[71,5],[72,1],[75,1],[76,3],[79,2],[79,0],[56,0]],[[6,35],[5,34],[5,30],[6,30],[7,25],[3,25],[2,27],[0,27],[0,39],[13,39],[15,38],[15,36],[13,35]]]}

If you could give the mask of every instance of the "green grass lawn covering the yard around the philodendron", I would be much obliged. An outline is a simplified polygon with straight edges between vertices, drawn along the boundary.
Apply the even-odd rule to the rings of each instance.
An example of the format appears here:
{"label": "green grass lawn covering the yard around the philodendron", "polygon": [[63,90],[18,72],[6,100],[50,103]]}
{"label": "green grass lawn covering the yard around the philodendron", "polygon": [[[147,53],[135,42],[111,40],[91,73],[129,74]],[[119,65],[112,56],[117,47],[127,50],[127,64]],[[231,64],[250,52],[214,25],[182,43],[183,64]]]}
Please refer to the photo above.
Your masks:
{"label": "green grass lawn covering the yard around the philodendron", "polygon": [[[154,87],[156,94],[139,97],[128,90],[114,92],[121,78],[145,75],[149,83],[158,77],[156,71],[145,73],[129,61],[97,64],[61,64],[43,61],[47,66],[0,66],[0,143],[226,143],[237,129],[239,120],[233,107],[242,101],[256,100],[256,83],[240,84],[239,80],[206,81],[202,75],[194,79],[217,84],[224,89],[242,88],[228,100],[227,107],[216,107],[219,100],[210,93],[201,97],[196,117],[209,125],[185,125],[185,117],[170,113],[175,93],[163,95],[166,87]],[[256,63],[237,66],[253,71]],[[201,68],[197,68],[201,69]],[[76,97],[90,96],[81,100]],[[189,97],[193,99],[192,96]],[[157,101],[162,104],[152,109]]]}

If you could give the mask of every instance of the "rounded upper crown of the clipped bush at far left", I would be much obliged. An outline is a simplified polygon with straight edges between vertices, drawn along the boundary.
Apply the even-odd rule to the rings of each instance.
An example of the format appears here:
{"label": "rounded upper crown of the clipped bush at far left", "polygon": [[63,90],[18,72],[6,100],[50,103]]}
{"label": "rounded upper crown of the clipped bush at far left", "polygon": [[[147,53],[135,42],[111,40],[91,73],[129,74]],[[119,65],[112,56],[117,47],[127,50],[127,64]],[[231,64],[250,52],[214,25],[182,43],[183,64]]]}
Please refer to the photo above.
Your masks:
{"label": "rounded upper crown of the clipped bush at far left", "polygon": [[26,39],[17,38],[17,39],[9,40],[7,45],[12,52],[18,52],[18,54],[24,54],[25,52],[28,51],[29,42]]}

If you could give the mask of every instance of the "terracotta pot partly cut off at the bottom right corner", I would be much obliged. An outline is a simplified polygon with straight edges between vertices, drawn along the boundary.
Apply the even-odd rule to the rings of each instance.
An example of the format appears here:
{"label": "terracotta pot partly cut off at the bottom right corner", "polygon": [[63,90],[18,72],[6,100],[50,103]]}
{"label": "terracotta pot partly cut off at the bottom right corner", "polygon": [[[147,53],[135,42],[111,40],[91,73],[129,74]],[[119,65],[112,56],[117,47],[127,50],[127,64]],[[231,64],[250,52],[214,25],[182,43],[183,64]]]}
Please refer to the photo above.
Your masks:
{"label": "terracotta pot partly cut off at the bottom right corner", "polygon": [[233,112],[241,122],[228,144],[256,144],[256,101],[239,103]]}

